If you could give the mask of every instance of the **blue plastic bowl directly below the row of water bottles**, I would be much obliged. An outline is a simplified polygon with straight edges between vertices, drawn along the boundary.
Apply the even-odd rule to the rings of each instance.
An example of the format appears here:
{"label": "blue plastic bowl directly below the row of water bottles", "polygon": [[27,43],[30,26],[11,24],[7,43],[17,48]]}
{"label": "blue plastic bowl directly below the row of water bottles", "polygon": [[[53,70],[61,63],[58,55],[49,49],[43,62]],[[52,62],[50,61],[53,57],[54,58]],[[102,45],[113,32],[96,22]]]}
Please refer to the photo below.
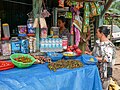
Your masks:
{"label": "blue plastic bowl directly below the row of water bottles", "polygon": [[49,56],[52,59],[52,61],[57,61],[57,60],[62,59],[63,54],[55,53],[55,52],[49,52],[49,53],[47,53],[47,56]]}

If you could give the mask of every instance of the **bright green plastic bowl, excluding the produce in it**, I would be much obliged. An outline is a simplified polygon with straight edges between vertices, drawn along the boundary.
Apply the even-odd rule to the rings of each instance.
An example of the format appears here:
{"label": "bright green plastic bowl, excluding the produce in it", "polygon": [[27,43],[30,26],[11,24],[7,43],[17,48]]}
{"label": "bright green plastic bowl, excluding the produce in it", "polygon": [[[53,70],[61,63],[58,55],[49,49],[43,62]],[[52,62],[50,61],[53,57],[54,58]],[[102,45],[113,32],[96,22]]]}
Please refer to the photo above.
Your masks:
{"label": "bright green plastic bowl, excluding the produce in it", "polygon": [[[19,62],[19,61],[15,60],[15,58],[19,58],[19,57],[27,57],[27,58],[29,58],[32,61],[31,62],[27,62],[27,63],[23,63],[23,62]],[[32,57],[31,55],[29,55],[29,54],[22,54],[22,53],[12,54],[10,56],[10,59],[11,59],[12,63],[15,66],[17,66],[18,68],[29,67],[29,66],[31,66],[36,61],[36,59],[34,57]]]}

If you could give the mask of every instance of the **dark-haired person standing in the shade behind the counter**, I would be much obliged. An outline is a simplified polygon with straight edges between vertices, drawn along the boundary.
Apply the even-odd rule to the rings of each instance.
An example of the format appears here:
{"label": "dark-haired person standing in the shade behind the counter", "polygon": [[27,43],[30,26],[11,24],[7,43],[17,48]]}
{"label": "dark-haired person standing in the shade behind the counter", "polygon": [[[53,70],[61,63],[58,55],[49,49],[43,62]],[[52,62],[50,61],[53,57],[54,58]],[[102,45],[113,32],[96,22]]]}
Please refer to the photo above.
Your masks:
{"label": "dark-haired person standing in the shade behind the counter", "polygon": [[70,33],[69,30],[65,27],[66,18],[63,16],[58,17],[58,27],[60,27],[59,37],[62,38],[66,36],[68,38],[68,43],[70,44]]}

